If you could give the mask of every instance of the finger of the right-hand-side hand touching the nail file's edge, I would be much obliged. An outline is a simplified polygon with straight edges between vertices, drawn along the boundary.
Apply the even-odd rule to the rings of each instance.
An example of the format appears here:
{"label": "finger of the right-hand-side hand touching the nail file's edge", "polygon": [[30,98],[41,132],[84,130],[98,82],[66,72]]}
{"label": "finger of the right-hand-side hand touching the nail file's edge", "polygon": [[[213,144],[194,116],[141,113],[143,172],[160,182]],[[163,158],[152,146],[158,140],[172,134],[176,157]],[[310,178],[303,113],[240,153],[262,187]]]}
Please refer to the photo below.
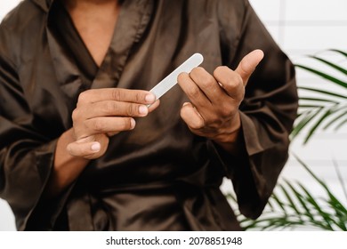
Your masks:
{"label": "finger of the right-hand-side hand touching the nail file's edge", "polygon": [[186,93],[190,101],[196,107],[204,107],[207,104],[211,104],[211,101],[208,100],[205,93],[201,91],[187,73],[181,73],[177,77],[177,82],[180,84],[182,91]]}

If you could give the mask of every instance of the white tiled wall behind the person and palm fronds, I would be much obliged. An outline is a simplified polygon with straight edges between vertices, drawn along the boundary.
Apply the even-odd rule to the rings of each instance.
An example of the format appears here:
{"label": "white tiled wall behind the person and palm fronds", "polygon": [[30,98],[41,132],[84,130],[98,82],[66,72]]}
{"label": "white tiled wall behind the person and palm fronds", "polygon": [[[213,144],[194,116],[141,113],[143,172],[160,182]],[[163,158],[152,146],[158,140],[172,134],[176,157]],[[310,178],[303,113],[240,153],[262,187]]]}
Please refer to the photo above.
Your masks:
{"label": "white tiled wall behind the person and palm fronds", "polygon": [[[18,2],[20,0],[2,0],[0,20]],[[305,62],[308,60],[305,55],[319,53],[347,66],[345,58],[325,52],[330,48],[347,51],[346,0],[250,0],[250,2],[270,34],[294,62]],[[297,71],[297,77],[299,85],[322,83],[321,79],[300,70]],[[339,77],[347,81],[347,76],[339,75]],[[302,137],[295,140],[291,151],[311,166],[319,177],[327,181],[335,194],[347,204],[333,164],[335,159],[344,181],[347,182],[347,129],[344,128],[339,133],[321,132],[307,146],[303,146],[302,142]],[[289,158],[282,177],[302,181],[317,195],[322,193],[319,186],[293,157]],[[229,187],[230,185],[225,183],[222,189]],[[12,213],[8,205],[0,200],[0,230],[12,229],[14,229]]]}

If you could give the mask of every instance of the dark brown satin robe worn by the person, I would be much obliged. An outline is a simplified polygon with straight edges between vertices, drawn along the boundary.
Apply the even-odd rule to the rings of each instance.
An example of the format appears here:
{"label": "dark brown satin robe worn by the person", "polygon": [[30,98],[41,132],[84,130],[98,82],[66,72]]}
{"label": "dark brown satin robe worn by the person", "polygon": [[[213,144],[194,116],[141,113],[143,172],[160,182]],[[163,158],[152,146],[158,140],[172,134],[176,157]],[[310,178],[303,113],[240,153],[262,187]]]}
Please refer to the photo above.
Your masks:
{"label": "dark brown satin robe worn by the person", "polygon": [[[225,176],[241,213],[258,217],[286,163],[297,94],[293,65],[247,1],[127,0],[100,68],[52,2],[24,1],[0,27],[0,197],[18,229],[240,229],[219,189]],[[243,155],[190,133],[180,117],[187,97],[175,86],[60,197],[42,197],[80,92],[149,90],[194,52],[212,73],[257,48],[265,58],[240,106]]]}

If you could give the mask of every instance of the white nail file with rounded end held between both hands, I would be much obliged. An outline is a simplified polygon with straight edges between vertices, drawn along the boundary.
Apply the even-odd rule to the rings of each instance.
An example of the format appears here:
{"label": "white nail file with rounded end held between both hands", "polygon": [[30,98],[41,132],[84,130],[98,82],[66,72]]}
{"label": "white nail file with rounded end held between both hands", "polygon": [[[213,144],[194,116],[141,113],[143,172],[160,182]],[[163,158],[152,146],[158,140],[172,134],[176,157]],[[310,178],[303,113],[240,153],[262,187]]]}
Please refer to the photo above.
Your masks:
{"label": "white nail file with rounded end held between both hands", "polygon": [[149,92],[154,93],[154,95],[156,95],[156,99],[158,100],[165,94],[165,92],[169,91],[175,84],[177,84],[177,77],[181,73],[189,74],[193,68],[198,67],[198,65],[200,65],[203,61],[204,57],[200,53],[194,53],[188,60],[184,61],[181,66],[174,69],[170,75],[166,76],[165,79],[150,89]]}

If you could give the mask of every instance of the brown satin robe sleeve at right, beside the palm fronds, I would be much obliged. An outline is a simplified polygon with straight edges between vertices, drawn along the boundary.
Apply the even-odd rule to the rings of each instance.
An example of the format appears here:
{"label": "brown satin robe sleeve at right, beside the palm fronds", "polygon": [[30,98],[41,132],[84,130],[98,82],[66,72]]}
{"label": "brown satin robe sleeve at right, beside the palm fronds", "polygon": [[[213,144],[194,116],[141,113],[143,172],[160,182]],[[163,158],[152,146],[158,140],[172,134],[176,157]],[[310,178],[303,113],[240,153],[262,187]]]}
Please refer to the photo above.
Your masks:
{"label": "brown satin robe sleeve at right, beside the palm fronds", "polygon": [[[278,48],[251,5],[246,0],[234,2],[242,4],[219,2],[223,63],[237,68],[239,61],[254,49],[262,49],[265,56],[246,85],[245,99],[239,108],[242,125],[239,146],[244,153],[233,157],[216,150],[233,183],[240,212],[255,219],[262,213],[286,164],[288,136],[295,121],[298,97],[291,61]],[[235,22],[230,21],[231,12],[243,17],[238,20],[237,32]]]}

